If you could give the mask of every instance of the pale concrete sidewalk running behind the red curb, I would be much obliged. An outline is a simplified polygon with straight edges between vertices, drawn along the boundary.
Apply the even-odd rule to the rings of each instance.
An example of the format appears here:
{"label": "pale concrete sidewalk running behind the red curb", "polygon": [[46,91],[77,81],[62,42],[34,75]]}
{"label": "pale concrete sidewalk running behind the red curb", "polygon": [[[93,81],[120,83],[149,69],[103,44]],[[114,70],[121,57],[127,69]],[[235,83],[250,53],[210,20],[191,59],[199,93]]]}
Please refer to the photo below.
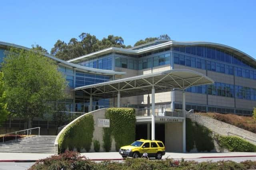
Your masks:
{"label": "pale concrete sidewalk running behind the red curb", "polygon": [[[19,162],[27,161],[34,162],[38,159],[46,158],[53,155],[52,153],[6,153],[0,152],[0,162]],[[118,152],[89,152],[81,153],[82,156],[86,156],[92,160],[121,160],[122,157]],[[248,157],[255,156],[256,152],[221,152],[221,153],[174,153],[166,152],[164,158],[228,158],[228,157]]]}

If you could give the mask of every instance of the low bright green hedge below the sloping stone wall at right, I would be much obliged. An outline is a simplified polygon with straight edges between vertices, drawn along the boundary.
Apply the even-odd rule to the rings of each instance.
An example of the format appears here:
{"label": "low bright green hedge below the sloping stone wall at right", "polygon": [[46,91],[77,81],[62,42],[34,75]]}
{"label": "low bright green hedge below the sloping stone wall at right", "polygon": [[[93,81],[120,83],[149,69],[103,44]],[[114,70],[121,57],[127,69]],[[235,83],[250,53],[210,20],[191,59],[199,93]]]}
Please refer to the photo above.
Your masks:
{"label": "low bright green hedge below the sloping stone wall at right", "polygon": [[222,148],[231,152],[256,152],[256,145],[236,136],[215,135],[215,139]]}

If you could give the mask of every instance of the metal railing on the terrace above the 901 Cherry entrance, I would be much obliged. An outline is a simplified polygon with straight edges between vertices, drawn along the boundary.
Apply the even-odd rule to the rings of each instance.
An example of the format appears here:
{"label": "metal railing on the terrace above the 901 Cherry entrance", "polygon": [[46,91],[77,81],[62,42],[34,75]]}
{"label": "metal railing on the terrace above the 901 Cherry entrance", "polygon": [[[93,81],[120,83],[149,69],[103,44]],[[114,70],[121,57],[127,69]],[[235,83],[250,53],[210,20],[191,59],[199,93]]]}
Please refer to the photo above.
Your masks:
{"label": "metal railing on the terrace above the 901 Cherry entrance", "polygon": [[[144,108],[144,109],[135,109],[137,117],[151,116],[152,109]],[[170,116],[170,117],[184,117],[182,109],[170,109],[170,108],[155,108],[156,116]]]}

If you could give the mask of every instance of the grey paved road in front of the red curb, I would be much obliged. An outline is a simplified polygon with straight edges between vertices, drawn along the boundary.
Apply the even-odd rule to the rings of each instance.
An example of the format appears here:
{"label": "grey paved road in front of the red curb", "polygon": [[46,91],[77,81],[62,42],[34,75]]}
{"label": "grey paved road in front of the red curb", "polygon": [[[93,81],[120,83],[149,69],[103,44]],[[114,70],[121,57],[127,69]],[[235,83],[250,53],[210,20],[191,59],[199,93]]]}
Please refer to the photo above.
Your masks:
{"label": "grey paved road in front of the red curb", "polygon": [[[235,157],[235,158],[187,158],[185,160],[195,160],[197,162],[204,162],[212,160],[217,162],[219,160],[232,160],[234,162],[242,162],[245,160],[256,160],[256,157]],[[98,162],[98,161],[97,161]],[[122,162],[122,161],[118,161]],[[0,162],[0,170],[26,170],[32,166],[34,162]]]}

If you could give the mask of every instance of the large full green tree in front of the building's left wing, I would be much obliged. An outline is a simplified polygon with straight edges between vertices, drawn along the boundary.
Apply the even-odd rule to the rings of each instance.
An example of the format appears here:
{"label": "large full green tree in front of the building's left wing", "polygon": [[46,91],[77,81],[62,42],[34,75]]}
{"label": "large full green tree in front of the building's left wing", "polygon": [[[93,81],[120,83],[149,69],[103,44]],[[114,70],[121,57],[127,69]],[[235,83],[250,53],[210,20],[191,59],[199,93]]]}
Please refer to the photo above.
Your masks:
{"label": "large full green tree in front of the building's left wing", "polygon": [[41,51],[11,48],[2,64],[8,110],[28,127],[34,117],[49,112],[52,101],[65,97],[67,82],[53,60]]}

